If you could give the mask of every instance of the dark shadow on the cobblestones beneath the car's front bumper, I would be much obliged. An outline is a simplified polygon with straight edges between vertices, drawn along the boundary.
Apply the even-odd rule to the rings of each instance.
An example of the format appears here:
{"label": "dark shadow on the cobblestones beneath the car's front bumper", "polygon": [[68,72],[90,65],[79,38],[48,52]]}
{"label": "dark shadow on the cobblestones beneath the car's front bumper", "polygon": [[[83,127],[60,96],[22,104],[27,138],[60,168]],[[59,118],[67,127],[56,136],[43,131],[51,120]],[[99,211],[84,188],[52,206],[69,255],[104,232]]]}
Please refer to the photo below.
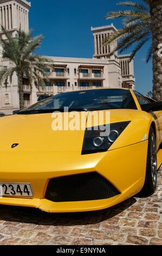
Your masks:
{"label": "dark shadow on the cobblestones beneath the car's front bumper", "polygon": [[36,225],[73,226],[96,224],[122,214],[136,202],[135,198],[127,199],[118,205],[101,211],[49,214],[35,208],[0,205],[0,221],[33,223]]}

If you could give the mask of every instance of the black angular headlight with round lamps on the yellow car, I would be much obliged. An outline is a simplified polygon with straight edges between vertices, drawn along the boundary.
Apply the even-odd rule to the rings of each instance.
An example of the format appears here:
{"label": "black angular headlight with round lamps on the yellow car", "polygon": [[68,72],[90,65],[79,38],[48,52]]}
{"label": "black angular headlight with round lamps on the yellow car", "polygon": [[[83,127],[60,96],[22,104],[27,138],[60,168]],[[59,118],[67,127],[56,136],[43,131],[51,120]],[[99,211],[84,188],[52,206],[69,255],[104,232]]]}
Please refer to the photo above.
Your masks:
{"label": "black angular headlight with round lamps on the yellow car", "polygon": [[109,124],[109,129],[107,129],[108,125],[105,125],[105,130],[108,132],[104,132],[104,136],[100,126],[86,129],[82,155],[107,151],[129,123],[130,121]]}

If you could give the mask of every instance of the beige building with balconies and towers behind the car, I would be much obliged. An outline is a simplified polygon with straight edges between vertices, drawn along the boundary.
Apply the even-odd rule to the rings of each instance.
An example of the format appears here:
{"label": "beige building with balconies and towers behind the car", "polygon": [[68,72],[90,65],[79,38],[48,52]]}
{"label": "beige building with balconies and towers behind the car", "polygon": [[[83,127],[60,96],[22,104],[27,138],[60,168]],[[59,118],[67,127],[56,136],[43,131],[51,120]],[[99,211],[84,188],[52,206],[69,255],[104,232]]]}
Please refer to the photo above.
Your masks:
{"label": "beige building with balconies and towers behind the car", "polygon": [[[16,35],[21,27],[25,32],[29,31],[29,8],[31,4],[25,0],[0,0],[0,24],[5,27],[12,36]],[[51,68],[46,70],[49,81],[46,87],[38,87],[34,82],[31,90],[28,80],[24,77],[24,106],[30,106],[38,100],[56,95],[58,93],[72,92],[99,87],[128,87],[134,88],[134,62],[130,62],[130,55],[118,56],[112,51],[117,41],[108,46],[103,46],[103,40],[117,29],[113,24],[109,26],[91,28],[94,38],[93,58],[64,58],[49,57]],[[4,36],[0,31],[0,36]],[[93,47],[93,46],[92,46]],[[1,66],[10,66],[9,60],[2,58]],[[14,75],[12,83],[4,81],[0,87],[0,112],[11,114],[19,108],[17,76]]]}

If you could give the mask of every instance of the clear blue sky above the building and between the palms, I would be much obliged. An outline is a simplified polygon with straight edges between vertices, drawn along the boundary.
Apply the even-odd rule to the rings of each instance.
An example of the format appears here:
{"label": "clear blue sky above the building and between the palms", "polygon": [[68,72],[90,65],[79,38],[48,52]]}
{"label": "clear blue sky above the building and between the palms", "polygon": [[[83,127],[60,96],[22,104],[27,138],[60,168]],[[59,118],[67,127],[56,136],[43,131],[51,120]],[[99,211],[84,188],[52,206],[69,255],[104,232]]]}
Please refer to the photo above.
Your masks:
{"label": "clear blue sky above the building and between the palms", "polygon": [[[31,0],[29,26],[34,35],[43,34],[39,54],[59,57],[93,56],[93,36],[90,27],[122,26],[121,19],[105,20],[107,11],[118,10],[116,0]],[[138,2],[142,2],[138,0]],[[152,63],[145,63],[149,44],[135,57],[136,89],[146,94],[152,89]],[[131,50],[130,50],[131,51]],[[129,53],[128,51],[127,53]]]}

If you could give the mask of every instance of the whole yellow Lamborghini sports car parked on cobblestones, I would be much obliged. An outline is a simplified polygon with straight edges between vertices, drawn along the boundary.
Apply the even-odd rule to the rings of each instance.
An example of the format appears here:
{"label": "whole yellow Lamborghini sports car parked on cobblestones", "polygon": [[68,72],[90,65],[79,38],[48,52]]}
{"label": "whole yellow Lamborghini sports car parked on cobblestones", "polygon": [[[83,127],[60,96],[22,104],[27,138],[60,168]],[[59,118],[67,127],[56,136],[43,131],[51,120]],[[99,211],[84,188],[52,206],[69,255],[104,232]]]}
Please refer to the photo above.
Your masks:
{"label": "whole yellow Lamborghini sports car parked on cobblestones", "polygon": [[101,210],[155,191],[162,102],[129,89],[58,94],[0,118],[0,141],[0,204]]}

